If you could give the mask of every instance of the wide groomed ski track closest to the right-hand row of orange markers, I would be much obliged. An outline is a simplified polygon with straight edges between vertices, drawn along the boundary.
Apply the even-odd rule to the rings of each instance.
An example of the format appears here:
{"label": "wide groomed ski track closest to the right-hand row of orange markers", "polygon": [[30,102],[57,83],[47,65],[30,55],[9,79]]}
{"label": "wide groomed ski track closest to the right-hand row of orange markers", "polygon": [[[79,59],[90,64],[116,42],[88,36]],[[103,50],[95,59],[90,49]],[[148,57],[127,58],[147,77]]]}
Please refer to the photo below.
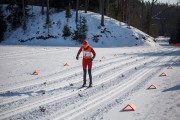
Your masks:
{"label": "wide groomed ski track closest to the right-hand row of orange markers", "polygon": [[[163,61],[165,61],[165,60],[163,60]],[[161,63],[156,63],[153,66],[157,66],[157,65],[161,65]],[[143,69],[139,70],[135,76],[131,76],[128,80],[126,80],[125,83],[121,84],[120,86],[114,87],[114,89],[106,91],[106,92],[104,92],[104,94],[101,93],[101,95],[99,95],[98,97],[94,97],[94,99],[89,100],[89,102],[87,102],[87,103],[85,102],[83,105],[79,105],[77,108],[71,109],[68,112],[66,112],[65,114],[61,113],[61,116],[56,116],[56,118],[54,120],[75,119],[79,115],[83,114],[84,111],[90,110],[96,106],[99,106],[100,104],[103,104],[105,101],[108,101],[109,99],[114,98],[115,96],[120,94],[120,92],[133,86],[135,83],[140,81],[141,78],[143,78],[144,76],[149,74],[151,71],[154,71],[154,69],[157,69],[157,68],[152,67],[151,69],[143,68]],[[69,116],[71,116],[71,117],[69,117]]]}

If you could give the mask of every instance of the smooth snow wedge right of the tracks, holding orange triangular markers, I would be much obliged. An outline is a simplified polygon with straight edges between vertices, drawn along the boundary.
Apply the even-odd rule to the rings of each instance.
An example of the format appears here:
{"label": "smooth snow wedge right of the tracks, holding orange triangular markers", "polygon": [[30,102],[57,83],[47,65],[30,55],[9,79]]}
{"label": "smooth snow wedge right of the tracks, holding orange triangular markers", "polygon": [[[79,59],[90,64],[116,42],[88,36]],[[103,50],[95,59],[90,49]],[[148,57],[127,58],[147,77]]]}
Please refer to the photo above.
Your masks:
{"label": "smooth snow wedge right of the tracks, holding orange triangular markers", "polygon": [[[124,103],[117,105],[104,115],[105,120],[179,120],[180,96],[179,96],[179,63],[173,64],[173,69],[164,69],[166,77],[159,77],[162,71],[144,85],[138,92],[130,96]],[[154,84],[157,89],[147,90]],[[122,112],[125,105],[133,102],[137,110],[134,112]]]}

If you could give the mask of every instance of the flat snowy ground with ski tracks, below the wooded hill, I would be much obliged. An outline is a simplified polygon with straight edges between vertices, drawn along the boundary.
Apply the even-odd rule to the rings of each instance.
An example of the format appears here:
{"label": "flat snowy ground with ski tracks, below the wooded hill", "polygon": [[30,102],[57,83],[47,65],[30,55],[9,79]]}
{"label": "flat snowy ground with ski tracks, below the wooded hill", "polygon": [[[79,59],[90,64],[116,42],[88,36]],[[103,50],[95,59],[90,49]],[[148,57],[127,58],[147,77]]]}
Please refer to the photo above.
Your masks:
{"label": "flat snowy ground with ski tracks, below the wooded hill", "polygon": [[[78,49],[1,45],[0,119],[144,120],[148,116],[146,120],[159,120],[171,116],[178,120],[179,48],[95,48],[94,87],[89,89],[79,89],[83,73],[81,60],[75,59]],[[32,75],[35,70],[40,74]],[[159,77],[162,72],[167,76]],[[147,90],[151,84],[157,90]],[[168,101],[162,102],[161,97]],[[120,112],[129,103],[137,110]],[[170,107],[171,114],[166,114],[165,108]],[[160,117],[154,116],[157,112]]]}

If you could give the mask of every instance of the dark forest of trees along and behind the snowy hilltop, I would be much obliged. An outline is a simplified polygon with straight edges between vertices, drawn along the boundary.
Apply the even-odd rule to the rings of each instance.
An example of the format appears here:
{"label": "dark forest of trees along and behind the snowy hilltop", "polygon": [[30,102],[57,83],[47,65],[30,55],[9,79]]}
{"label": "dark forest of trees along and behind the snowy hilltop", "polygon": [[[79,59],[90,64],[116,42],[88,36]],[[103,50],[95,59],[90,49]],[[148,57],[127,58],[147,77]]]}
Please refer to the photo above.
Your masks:
{"label": "dark forest of trees along and behind the snowy hilltop", "polygon": [[[3,4],[11,13],[8,16],[3,14]],[[47,14],[47,22],[53,12],[74,9],[78,16],[78,10],[92,11],[102,15],[101,26],[105,25],[104,16],[109,16],[153,37],[167,36],[171,37],[170,43],[180,43],[180,0],[177,4],[160,3],[158,0],[1,0],[0,38],[7,29],[7,22],[12,28],[25,28],[25,21],[30,16],[29,6],[34,5],[42,7],[42,14]]]}

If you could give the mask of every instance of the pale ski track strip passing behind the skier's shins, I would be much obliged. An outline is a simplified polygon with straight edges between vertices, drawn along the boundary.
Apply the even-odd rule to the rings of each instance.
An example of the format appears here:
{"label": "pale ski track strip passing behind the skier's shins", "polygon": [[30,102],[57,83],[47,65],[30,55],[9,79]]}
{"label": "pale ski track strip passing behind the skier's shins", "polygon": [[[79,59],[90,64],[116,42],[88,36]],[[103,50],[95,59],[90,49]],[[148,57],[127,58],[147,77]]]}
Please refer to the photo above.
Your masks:
{"label": "pale ski track strip passing behind the skier's shins", "polygon": [[[136,58],[137,59],[137,58]],[[139,60],[143,60],[143,59],[139,59]],[[137,62],[141,62],[141,61],[137,61]],[[151,58],[150,58],[150,60],[151,60]],[[136,62],[135,60],[134,61],[129,61],[129,63],[130,62]],[[126,63],[127,64],[127,63]],[[134,64],[136,64],[136,63],[134,63]],[[122,65],[124,65],[124,63],[119,63],[119,64],[116,64],[116,65],[111,65],[110,67],[107,67],[107,68],[105,68],[105,69],[101,69],[101,70],[99,70],[99,71],[95,71],[95,74],[93,74],[93,76],[96,78],[96,76],[98,76],[99,74],[103,74],[104,72],[108,72],[108,71],[110,71],[110,70],[113,70],[114,69],[114,67],[120,67],[120,66],[122,66]],[[137,66],[137,65],[133,65],[131,68],[133,68],[133,67],[135,67],[135,66]],[[123,69],[123,70],[126,70],[126,69]],[[128,69],[127,69],[128,70]],[[122,70],[121,70],[122,71]],[[110,75],[110,76],[112,76],[112,75]],[[82,78],[82,77],[81,77]],[[78,83],[78,82],[81,82],[82,80],[81,79],[73,79],[73,81],[75,81],[74,83]],[[33,91],[34,93],[36,93],[36,92],[38,92],[38,91],[41,91],[41,90],[43,90],[43,91],[50,91],[50,90],[55,90],[55,89],[58,89],[58,88],[60,88],[60,87],[65,87],[65,86],[67,86],[68,85],[68,83],[69,83],[70,81],[64,81],[64,82],[60,82],[60,83],[56,83],[55,85],[48,85],[48,86],[43,86],[43,87],[38,87],[38,89],[35,89],[35,90],[31,90],[31,91]],[[36,93],[36,94],[38,94],[38,93]],[[3,105],[3,104],[7,104],[7,103],[10,103],[10,102],[14,102],[14,101],[17,101],[17,100],[20,100],[20,99],[24,99],[24,98],[27,98],[27,97],[29,97],[29,95],[26,95],[26,96],[15,96],[15,97],[10,97],[10,98],[7,98],[7,99],[2,99],[2,102],[0,103],[0,105]]]}

